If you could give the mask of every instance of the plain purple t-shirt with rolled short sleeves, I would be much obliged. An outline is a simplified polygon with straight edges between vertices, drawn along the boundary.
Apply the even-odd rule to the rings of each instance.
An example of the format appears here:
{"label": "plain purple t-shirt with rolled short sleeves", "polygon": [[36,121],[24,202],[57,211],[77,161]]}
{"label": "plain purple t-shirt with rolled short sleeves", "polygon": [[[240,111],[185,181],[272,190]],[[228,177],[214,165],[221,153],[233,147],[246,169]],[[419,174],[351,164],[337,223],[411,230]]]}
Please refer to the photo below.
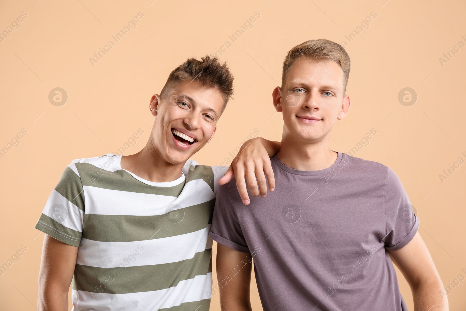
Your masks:
{"label": "plain purple t-shirt with rolled short sleeves", "polygon": [[419,219],[397,175],[341,152],[319,171],[271,162],[274,192],[248,206],[235,180],[219,186],[209,233],[253,256],[263,309],[407,310],[385,249],[411,241]]}

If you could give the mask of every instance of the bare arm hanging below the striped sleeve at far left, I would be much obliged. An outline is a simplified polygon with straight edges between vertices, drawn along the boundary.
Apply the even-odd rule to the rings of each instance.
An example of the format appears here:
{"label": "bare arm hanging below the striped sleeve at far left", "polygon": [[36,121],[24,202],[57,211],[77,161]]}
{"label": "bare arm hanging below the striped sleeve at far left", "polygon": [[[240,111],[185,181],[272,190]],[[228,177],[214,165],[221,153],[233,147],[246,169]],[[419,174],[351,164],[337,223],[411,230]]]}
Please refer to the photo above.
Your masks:
{"label": "bare arm hanging below the striped sleeve at far left", "polygon": [[75,272],[77,253],[76,246],[45,235],[39,270],[39,311],[68,311],[68,291]]}

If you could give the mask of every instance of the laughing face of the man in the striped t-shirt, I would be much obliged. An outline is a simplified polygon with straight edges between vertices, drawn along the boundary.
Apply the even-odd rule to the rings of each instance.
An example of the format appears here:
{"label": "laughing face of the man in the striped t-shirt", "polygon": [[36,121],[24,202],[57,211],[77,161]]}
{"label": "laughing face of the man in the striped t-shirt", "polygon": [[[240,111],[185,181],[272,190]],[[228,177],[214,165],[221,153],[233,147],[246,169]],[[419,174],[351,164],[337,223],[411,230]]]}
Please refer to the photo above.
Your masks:
{"label": "laughing face of the man in the striped t-shirt", "polygon": [[208,143],[225,100],[219,90],[183,81],[166,98],[151,98],[155,116],[151,138],[161,157],[170,164],[182,164]]}

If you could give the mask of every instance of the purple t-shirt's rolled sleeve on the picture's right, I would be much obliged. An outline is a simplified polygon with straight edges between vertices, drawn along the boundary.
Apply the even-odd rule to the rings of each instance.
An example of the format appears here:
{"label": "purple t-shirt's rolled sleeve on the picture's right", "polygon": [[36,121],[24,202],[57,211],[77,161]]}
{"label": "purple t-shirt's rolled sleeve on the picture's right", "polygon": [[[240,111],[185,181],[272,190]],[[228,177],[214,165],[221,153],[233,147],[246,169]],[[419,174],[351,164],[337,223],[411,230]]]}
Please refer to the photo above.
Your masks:
{"label": "purple t-shirt's rolled sleeve on the picture's right", "polygon": [[411,202],[397,174],[389,167],[387,167],[384,210],[386,217],[386,235],[383,240],[385,248],[401,249],[416,235],[419,228],[419,218],[414,214]]}

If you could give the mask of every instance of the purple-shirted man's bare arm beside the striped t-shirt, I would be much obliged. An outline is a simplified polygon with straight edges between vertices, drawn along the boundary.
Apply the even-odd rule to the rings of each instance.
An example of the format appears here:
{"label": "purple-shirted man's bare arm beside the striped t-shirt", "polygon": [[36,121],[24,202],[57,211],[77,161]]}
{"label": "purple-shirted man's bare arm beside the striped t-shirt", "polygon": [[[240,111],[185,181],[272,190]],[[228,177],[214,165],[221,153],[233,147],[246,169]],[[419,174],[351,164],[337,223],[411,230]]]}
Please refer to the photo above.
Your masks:
{"label": "purple-shirted man's bare arm beside the striped t-shirt", "polygon": [[217,279],[222,286],[220,288],[222,311],[252,311],[249,299],[251,267],[250,254],[217,243]]}

